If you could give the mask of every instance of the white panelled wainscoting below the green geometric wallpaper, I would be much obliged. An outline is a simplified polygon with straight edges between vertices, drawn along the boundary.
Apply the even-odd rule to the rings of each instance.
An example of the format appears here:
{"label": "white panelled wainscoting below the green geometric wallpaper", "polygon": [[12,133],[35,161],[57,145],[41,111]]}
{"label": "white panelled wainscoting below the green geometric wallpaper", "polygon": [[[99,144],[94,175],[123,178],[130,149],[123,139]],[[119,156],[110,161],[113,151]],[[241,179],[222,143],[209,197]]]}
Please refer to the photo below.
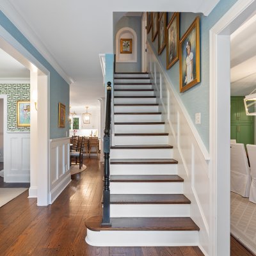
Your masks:
{"label": "white panelled wainscoting below the green geometric wallpaper", "polygon": [[4,182],[30,182],[30,134],[6,132]]}

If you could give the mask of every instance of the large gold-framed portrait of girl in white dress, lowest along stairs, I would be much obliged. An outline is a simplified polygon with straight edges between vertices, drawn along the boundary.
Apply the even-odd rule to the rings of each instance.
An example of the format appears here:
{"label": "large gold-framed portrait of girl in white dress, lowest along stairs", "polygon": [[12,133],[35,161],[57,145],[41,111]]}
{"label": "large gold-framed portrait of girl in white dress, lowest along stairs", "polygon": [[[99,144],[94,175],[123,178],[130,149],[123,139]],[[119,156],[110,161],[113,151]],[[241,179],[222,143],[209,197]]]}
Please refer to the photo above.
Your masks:
{"label": "large gold-framed portrait of girl in white dress, lowest along stairs", "polygon": [[200,29],[199,17],[193,21],[180,39],[180,92],[200,83]]}

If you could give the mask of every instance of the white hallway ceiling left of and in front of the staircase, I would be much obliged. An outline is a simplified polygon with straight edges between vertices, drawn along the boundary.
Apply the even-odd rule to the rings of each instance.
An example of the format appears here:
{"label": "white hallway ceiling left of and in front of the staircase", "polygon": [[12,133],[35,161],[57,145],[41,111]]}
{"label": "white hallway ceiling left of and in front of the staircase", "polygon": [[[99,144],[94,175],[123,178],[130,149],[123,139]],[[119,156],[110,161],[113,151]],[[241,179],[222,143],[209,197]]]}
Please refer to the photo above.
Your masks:
{"label": "white hallway ceiling left of and in front of the staircase", "polygon": [[113,52],[113,12],[207,15],[219,1],[1,0],[0,8],[61,76],[74,82],[70,105],[90,106],[104,97],[99,54]]}

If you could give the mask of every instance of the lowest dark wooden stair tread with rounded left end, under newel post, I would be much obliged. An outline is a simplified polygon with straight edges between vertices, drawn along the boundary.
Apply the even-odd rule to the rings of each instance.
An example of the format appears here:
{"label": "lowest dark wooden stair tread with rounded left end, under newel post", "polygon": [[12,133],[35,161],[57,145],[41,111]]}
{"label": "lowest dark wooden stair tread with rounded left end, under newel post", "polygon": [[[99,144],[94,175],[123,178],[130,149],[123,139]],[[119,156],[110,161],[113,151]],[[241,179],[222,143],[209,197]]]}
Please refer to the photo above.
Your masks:
{"label": "lowest dark wooden stair tread with rounded left end, under newel post", "polygon": [[102,216],[92,216],[85,225],[92,231],[100,230],[148,230],[148,231],[198,231],[199,227],[189,217],[166,218],[111,218],[111,226],[102,226]]}

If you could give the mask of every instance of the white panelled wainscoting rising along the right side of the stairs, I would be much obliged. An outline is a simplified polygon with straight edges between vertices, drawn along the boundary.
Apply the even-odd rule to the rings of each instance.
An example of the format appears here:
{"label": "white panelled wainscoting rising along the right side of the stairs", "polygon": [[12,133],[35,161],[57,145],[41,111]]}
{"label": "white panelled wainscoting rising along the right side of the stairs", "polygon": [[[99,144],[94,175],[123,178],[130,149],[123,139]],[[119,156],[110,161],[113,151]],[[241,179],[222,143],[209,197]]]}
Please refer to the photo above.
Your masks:
{"label": "white panelled wainscoting rising along the right side of the stairs", "polygon": [[164,114],[166,132],[170,134],[173,158],[179,161],[178,174],[184,179],[184,194],[191,200],[191,218],[200,227],[198,245],[205,255],[209,255],[209,153],[150,45],[148,70]]}

